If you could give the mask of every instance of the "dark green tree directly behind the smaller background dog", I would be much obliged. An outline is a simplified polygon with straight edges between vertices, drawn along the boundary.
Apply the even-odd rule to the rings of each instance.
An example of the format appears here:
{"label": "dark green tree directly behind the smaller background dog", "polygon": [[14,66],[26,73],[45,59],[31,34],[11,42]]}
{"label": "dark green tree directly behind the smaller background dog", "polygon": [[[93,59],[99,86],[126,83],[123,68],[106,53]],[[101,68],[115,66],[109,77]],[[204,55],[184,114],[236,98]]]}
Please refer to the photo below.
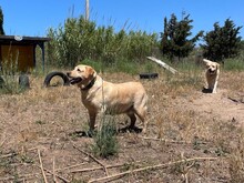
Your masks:
{"label": "dark green tree directly behind the smaller background dog", "polygon": [[238,37],[242,27],[236,27],[234,22],[226,19],[223,27],[218,22],[214,23],[214,30],[207,32],[202,44],[203,55],[215,61],[223,61],[227,58],[236,57],[241,51],[242,38]]}

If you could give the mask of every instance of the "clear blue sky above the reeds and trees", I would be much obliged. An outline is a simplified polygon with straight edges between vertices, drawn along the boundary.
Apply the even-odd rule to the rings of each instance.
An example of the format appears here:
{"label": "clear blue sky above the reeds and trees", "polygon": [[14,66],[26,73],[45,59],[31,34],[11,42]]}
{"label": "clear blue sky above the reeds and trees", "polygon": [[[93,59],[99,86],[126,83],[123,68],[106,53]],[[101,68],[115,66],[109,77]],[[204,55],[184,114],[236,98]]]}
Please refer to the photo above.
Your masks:
{"label": "clear blue sky above the reeds and trees", "polygon": [[[84,14],[85,0],[1,0],[6,34],[44,37],[49,28],[62,26],[69,17]],[[163,31],[163,19],[182,12],[193,19],[193,34],[200,30],[211,31],[213,24],[230,18],[237,27],[244,26],[243,0],[90,0],[90,19],[98,26],[113,26]],[[244,39],[244,28],[240,35]]]}

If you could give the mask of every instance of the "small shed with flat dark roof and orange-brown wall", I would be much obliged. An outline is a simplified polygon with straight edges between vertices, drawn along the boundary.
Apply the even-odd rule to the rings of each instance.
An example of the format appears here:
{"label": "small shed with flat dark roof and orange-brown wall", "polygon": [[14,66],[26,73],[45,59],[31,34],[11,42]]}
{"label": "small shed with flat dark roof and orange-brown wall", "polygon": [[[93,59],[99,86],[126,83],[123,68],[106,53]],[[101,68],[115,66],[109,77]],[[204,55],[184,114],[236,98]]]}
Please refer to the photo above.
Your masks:
{"label": "small shed with flat dark roof and orange-brown wall", "polygon": [[35,48],[42,51],[42,69],[44,69],[44,42],[50,38],[0,35],[0,68],[17,63],[18,71],[28,72],[35,68]]}

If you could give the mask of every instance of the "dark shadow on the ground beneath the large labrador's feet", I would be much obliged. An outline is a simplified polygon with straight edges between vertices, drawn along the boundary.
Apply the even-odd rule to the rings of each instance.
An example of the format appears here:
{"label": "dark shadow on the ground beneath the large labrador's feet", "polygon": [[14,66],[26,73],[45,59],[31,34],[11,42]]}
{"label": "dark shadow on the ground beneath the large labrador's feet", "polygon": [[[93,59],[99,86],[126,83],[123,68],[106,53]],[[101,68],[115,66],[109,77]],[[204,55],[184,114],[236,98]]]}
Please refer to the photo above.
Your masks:
{"label": "dark shadow on the ground beneath the large labrador's feet", "polygon": [[[114,134],[119,134],[119,133],[141,133],[142,129],[133,126],[125,126],[119,130],[114,130]],[[69,136],[75,136],[75,138],[92,138],[98,133],[98,131],[91,132],[91,131],[74,131],[69,133]]]}

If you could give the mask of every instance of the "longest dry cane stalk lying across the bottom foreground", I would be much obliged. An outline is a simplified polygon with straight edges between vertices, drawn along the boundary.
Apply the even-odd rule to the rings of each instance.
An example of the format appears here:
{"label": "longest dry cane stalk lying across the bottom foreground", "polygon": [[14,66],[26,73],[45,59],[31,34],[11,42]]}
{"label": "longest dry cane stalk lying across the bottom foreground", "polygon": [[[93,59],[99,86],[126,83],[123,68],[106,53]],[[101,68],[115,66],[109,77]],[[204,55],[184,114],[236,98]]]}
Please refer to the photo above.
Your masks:
{"label": "longest dry cane stalk lying across the bottom foreground", "polygon": [[145,166],[145,167],[140,167],[140,169],[135,169],[135,170],[132,170],[132,171],[125,171],[125,172],[122,172],[122,173],[113,174],[113,175],[110,175],[110,176],[103,176],[103,177],[100,177],[100,179],[91,180],[91,181],[89,181],[89,183],[118,179],[118,177],[124,176],[124,175],[130,174],[130,173],[142,172],[142,171],[146,171],[146,170],[150,170],[150,169],[167,167],[167,166],[179,164],[179,163],[185,163],[185,162],[191,162],[191,161],[206,161],[206,160],[211,161],[211,160],[216,160],[216,159],[217,157],[193,157],[193,159],[179,160],[179,161],[169,162],[169,163],[165,163],[165,164]]}

